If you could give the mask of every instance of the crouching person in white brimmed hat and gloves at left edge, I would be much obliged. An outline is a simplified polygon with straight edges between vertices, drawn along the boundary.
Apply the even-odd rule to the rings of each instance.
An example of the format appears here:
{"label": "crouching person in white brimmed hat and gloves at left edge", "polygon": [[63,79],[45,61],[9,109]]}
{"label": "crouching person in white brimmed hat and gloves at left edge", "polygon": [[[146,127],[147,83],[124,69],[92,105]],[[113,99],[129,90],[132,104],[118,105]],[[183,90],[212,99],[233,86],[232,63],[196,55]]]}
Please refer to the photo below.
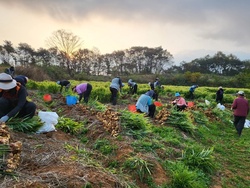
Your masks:
{"label": "crouching person in white brimmed hat and gloves at left edge", "polygon": [[16,82],[11,75],[0,74],[0,123],[10,118],[32,118],[36,112],[36,105],[26,99],[27,90]]}

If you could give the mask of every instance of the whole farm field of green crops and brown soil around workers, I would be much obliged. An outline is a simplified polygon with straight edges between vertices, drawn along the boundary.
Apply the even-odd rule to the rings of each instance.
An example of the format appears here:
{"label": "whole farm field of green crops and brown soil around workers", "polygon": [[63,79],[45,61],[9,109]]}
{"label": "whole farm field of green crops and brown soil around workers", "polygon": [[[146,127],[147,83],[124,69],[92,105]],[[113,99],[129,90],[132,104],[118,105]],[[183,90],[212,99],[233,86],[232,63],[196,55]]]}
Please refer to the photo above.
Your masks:
{"label": "whole farm field of green crops and brown soil around workers", "polygon": [[[73,85],[78,82],[72,81]],[[225,88],[225,110],[217,108],[217,88],[199,87],[194,106],[177,112],[171,101],[180,92],[188,99],[189,87],[164,86],[153,119],[132,113],[149,86],[139,84],[138,95],[125,86],[118,104],[109,104],[109,83],[91,82],[91,99],[67,106],[59,87],[49,81],[30,81],[28,99],[37,112],[59,115],[57,131],[35,134],[10,129],[12,141],[22,142],[18,168],[0,174],[0,187],[92,187],[92,188],[247,188],[250,187],[250,129],[237,137],[230,105],[238,90]],[[44,102],[44,94],[52,101]],[[205,100],[210,101],[206,104]],[[14,120],[13,120],[14,121]],[[16,122],[8,122],[11,124]],[[39,124],[34,117],[31,123]],[[8,125],[7,124],[7,125]]]}

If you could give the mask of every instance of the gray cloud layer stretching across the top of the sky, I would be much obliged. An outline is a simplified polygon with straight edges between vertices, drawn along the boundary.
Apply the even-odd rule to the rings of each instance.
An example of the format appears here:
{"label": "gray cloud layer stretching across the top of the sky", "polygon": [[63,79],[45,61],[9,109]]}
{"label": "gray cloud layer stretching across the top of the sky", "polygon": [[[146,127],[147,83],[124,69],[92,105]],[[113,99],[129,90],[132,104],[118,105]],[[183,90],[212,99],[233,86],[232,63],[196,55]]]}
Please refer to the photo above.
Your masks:
{"label": "gray cloud layer stretching across the top of the sky", "polygon": [[0,6],[24,8],[64,22],[99,15],[124,23],[188,26],[201,38],[250,45],[249,0],[0,0]]}

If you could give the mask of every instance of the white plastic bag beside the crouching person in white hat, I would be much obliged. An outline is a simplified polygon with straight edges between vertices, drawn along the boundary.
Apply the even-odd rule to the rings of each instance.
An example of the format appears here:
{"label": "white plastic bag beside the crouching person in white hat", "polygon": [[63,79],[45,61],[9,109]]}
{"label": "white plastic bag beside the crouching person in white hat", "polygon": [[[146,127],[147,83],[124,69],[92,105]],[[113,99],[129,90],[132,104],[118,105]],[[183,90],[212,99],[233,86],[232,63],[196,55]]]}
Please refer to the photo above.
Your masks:
{"label": "white plastic bag beside the crouching person in white hat", "polygon": [[55,131],[55,125],[58,123],[58,118],[59,116],[57,115],[56,112],[43,112],[39,111],[38,112],[38,117],[41,119],[43,122],[43,126],[41,126],[36,133],[47,133],[51,131]]}

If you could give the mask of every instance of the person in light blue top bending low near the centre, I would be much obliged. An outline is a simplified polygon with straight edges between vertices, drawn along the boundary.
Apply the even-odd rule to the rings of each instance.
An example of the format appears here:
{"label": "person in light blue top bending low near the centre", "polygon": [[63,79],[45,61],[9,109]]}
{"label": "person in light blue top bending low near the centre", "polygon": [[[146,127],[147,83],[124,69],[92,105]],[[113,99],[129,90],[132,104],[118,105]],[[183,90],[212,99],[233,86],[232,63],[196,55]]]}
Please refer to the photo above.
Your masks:
{"label": "person in light blue top bending low near the centre", "polygon": [[[153,91],[153,90],[151,90]],[[148,94],[152,94],[149,92]],[[155,105],[153,99],[148,94],[142,94],[136,102],[136,111],[140,113],[146,113],[149,117],[153,118],[155,114]]]}

